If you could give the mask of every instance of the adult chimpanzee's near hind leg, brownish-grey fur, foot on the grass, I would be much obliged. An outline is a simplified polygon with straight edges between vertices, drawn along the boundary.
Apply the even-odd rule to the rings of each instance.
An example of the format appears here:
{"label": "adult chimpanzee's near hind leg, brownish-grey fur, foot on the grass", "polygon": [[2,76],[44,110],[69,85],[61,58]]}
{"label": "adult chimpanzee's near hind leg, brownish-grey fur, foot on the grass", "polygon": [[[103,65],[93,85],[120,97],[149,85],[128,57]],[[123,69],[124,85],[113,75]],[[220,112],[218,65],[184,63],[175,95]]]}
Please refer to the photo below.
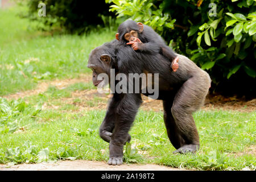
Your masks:
{"label": "adult chimpanzee's near hind leg, brownish-grey fur, foot on the grass", "polygon": [[209,90],[209,81],[209,77],[204,74],[194,76],[185,81],[176,93],[171,111],[184,144],[174,154],[199,150],[199,134],[192,113],[203,104]]}

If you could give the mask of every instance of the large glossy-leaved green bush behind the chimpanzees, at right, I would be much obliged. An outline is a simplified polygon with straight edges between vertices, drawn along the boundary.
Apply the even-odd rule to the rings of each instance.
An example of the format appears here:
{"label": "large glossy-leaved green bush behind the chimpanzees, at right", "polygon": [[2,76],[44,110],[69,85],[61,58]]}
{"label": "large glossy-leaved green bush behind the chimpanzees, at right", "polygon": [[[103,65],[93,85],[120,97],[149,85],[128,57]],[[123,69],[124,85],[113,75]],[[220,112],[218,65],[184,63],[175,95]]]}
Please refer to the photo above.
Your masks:
{"label": "large glossy-leaved green bush behind the chimpanzees, at right", "polygon": [[[255,96],[255,0],[106,0],[117,17],[155,29],[177,53],[207,69],[213,92]],[[216,7],[216,9],[215,9]],[[216,11],[214,11],[216,10]]]}

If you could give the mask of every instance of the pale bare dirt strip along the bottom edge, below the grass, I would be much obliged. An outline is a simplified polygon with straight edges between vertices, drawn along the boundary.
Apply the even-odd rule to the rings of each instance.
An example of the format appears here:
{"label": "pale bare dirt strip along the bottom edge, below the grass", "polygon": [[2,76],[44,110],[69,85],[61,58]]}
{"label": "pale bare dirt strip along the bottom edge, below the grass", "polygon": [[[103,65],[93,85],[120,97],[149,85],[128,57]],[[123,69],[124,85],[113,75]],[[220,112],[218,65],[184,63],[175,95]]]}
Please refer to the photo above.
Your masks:
{"label": "pale bare dirt strip along the bottom edge, below the grass", "polygon": [[0,171],[184,171],[185,169],[156,164],[123,164],[109,166],[105,162],[90,160],[61,160],[56,163],[0,165]]}

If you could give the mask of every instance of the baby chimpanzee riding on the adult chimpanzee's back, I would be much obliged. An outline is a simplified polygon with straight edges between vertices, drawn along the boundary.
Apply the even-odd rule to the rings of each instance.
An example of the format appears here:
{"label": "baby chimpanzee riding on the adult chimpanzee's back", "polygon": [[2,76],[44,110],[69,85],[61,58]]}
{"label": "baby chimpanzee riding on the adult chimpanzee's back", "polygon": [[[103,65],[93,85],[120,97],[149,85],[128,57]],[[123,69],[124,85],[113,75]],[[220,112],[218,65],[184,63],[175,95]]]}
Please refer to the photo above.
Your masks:
{"label": "baby chimpanzee riding on the adult chimpanzee's back", "polygon": [[134,20],[126,20],[118,27],[118,33],[115,39],[123,44],[131,45],[134,50],[142,52],[160,52],[171,61],[171,68],[174,72],[179,68],[177,63],[179,57],[177,54],[164,43],[164,40],[151,27]]}

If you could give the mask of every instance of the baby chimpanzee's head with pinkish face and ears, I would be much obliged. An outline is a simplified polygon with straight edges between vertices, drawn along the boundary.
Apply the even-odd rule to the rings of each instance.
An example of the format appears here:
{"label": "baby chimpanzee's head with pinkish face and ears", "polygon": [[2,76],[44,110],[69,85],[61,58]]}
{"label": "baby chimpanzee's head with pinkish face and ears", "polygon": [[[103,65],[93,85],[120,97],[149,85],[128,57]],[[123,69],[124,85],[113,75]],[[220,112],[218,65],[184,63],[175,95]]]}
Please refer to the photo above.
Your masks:
{"label": "baby chimpanzee's head with pinkish face and ears", "polygon": [[143,24],[141,22],[137,23],[134,20],[126,20],[118,27],[118,33],[115,34],[115,39],[125,43],[132,42],[136,38],[142,39],[140,36],[142,32]]}

